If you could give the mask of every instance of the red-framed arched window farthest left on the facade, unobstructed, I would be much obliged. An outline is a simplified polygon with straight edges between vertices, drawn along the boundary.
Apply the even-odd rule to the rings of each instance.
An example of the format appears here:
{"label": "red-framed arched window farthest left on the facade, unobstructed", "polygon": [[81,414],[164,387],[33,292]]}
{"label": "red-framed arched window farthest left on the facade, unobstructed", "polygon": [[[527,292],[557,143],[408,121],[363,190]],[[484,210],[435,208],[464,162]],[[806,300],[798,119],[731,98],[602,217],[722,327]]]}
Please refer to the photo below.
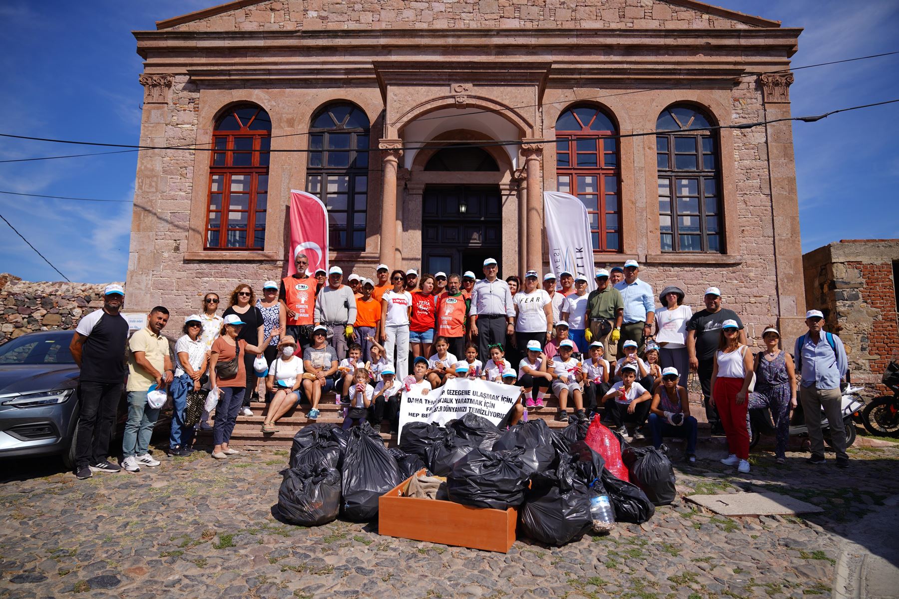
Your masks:
{"label": "red-framed arched window farthest left on the facade, unobstructed", "polygon": [[271,119],[258,106],[227,110],[212,133],[208,250],[262,250],[268,207]]}

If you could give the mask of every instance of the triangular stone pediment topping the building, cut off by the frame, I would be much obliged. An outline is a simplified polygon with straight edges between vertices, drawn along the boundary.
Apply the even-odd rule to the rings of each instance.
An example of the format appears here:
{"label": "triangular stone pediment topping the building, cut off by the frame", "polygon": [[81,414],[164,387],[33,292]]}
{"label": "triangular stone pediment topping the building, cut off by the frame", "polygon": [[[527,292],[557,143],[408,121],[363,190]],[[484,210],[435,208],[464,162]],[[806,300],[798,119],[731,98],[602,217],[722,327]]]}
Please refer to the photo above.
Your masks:
{"label": "triangular stone pediment topping the building, cut off by the frame", "polygon": [[[749,29],[779,27],[695,0],[235,0],[156,22],[165,31],[365,29]],[[542,5],[541,5],[542,4]]]}

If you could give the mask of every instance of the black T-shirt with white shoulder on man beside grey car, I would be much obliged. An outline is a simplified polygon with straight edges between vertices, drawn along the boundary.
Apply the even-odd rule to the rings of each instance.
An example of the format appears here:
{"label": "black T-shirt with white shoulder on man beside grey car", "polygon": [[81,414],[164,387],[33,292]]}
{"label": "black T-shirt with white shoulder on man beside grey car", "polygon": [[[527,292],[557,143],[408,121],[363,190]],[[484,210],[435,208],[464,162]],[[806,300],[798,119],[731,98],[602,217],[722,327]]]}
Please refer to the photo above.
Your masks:
{"label": "black T-shirt with white shoulder on man beside grey car", "polygon": [[128,342],[125,317],[95,310],[78,322],[76,332],[87,338],[81,353],[80,380],[124,383],[125,344]]}

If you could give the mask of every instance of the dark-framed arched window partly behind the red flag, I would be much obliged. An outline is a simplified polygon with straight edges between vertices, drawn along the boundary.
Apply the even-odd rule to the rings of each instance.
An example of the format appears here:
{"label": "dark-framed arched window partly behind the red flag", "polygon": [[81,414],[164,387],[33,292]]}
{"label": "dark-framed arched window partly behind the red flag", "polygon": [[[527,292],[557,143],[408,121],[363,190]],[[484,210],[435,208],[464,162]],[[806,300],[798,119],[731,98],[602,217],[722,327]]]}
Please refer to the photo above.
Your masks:
{"label": "dark-framed arched window partly behind the red flag", "polygon": [[328,242],[334,249],[365,249],[368,207],[369,118],[349,102],[328,104],[309,127],[306,189],[328,208]]}

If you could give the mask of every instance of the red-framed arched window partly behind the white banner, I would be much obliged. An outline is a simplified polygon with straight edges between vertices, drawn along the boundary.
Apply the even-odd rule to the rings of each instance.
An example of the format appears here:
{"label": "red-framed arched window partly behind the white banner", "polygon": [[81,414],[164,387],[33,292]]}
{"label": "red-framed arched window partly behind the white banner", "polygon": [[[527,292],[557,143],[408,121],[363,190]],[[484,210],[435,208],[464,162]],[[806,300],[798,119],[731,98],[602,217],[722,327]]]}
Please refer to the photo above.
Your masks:
{"label": "red-framed arched window partly behind the white banner", "polygon": [[593,251],[620,251],[618,139],[595,106],[576,106],[556,120],[558,190],[581,198],[590,216]]}

